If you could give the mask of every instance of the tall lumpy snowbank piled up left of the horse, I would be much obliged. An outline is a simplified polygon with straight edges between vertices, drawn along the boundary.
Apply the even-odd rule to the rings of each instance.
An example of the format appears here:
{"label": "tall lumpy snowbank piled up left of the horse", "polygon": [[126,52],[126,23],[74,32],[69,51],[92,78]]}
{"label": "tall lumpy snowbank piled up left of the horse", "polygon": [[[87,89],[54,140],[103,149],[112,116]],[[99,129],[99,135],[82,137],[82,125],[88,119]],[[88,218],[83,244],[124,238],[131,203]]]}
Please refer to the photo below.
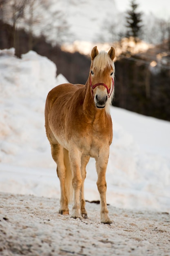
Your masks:
{"label": "tall lumpy snowbank piled up left of the horse", "polygon": [[62,75],[56,79],[56,70],[33,51],[22,59],[14,49],[0,51],[0,162],[46,166],[44,104],[48,92],[66,82]]}

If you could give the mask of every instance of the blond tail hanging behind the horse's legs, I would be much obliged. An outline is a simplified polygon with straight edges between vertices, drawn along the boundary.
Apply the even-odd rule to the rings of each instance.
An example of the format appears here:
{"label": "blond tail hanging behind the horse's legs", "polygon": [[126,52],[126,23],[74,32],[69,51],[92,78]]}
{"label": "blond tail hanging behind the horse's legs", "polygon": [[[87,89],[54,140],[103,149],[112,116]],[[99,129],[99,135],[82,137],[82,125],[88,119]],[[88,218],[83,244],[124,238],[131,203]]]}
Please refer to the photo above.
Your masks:
{"label": "blond tail hanging behind the horse's legs", "polygon": [[72,175],[70,161],[68,157],[68,150],[66,150],[65,148],[64,148],[64,165],[66,167],[66,179],[65,179],[66,196],[68,199],[68,203],[71,203],[73,202],[73,186],[72,186],[73,175]]}

